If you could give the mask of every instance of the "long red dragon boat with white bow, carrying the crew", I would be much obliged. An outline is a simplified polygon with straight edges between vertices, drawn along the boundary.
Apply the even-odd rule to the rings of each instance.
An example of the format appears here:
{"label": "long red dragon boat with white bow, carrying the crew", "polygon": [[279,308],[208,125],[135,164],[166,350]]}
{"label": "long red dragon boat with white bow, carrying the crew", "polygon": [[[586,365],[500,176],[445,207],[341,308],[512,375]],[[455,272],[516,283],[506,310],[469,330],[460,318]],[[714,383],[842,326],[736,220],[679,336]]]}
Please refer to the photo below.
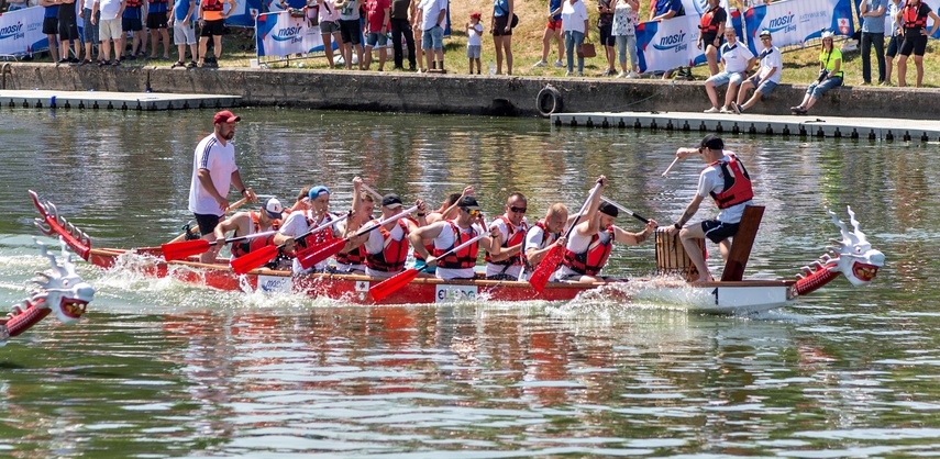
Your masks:
{"label": "long red dragon boat with white bow, carrying the crew", "polygon": [[[829,246],[829,253],[817,259],[812,266],[801,268],[801,273],[792,280],[743,279],[747,260],[750,257],[763,208],[751,206],[745,211],[739,234],[732,244],[731,253],[721,280],[705,283],[688,283],[676,276],[656,276],[652,279],[632,279],[606,282],[549,282],[542,291],[533,289],[526,281],[495,281],[486,279],[444,281],[432,278],[417,278],[395,292],[376,301],[369,289],[385,279],[356,275],[309,273],[294,275],[289,270],[267,268],[254,269],[245,275],[236,275],[228,260],[217,264],[199,262],[197,257],[167,261],[162,257],[161,247],[134,249],[92,248],[91,238],[58,215],[51,202],[41,202],[35,192],[30,191],[33,204],[41,217],[36,226],[49,236],[60,237],[76,254],[85,260],[109,269],[123,264],[128,257],[141,257],[133,265],[145,276],[172,277],[181,281],[201,284],[213,289],[230,291],[266,291],[272,293],[305,293],[314,298],[330,298],[338,301],[360,304],[414,304],[441,303],[452,301],[567,301],[588,292],[596,292],[611,301],[629,301],[638,288],[657,291],[675,290],[689,293],[685,298],[696,298],[696,304],[689,309],[719,313],[747,314],[775,309],[787,304],[799,295],[807,294],[829,283],[839,276],[853,286],[870,283],[880,267],[884,265],[884,255],[873,249],[851,209],[848,210],[852,231],[839,220],[836,213],[828,211],[832,222],[839,227],[842,239]],[[671,247],[661,247],[657,232],[657,267],[661,272],[668,271],[660,260],[685,256],[682,244],[673,240]],[[678,253],[676,251],[678,250]],[[690,264],[681,267],[683,275],[694,269]],[[627,288],[624,288],[627,287]]]}

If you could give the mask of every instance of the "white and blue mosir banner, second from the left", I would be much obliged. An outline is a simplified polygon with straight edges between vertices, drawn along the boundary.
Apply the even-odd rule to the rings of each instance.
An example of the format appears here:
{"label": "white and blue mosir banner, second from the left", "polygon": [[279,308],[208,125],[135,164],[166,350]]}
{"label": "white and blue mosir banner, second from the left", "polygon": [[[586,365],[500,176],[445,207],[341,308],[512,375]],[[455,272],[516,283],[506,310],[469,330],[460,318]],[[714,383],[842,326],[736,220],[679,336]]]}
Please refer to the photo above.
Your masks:
{"label": "white and blue mosir banner, second from the left", "polygon": [[255,26],[258,56],[289,56],[323,47],[320,27],[310,26],[306,16],[286,11],[258,15]]}

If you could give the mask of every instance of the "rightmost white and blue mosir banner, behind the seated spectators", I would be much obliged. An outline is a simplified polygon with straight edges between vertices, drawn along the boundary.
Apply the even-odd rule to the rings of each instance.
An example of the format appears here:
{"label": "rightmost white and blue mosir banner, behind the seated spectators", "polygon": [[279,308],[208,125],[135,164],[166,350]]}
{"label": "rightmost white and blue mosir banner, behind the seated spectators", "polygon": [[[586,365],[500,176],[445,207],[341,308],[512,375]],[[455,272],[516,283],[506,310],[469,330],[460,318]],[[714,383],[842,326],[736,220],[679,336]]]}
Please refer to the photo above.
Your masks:
{"label": "rightmost white and blue mosir banner, behind the seated spectators", "polygon": [[803,46],[819,38],[822,30],[851,36],[855,32],[851,0],[784,0],[760,4],[744,13],[748,46],[757,54],[757,34],[768,30],[776,47]]}

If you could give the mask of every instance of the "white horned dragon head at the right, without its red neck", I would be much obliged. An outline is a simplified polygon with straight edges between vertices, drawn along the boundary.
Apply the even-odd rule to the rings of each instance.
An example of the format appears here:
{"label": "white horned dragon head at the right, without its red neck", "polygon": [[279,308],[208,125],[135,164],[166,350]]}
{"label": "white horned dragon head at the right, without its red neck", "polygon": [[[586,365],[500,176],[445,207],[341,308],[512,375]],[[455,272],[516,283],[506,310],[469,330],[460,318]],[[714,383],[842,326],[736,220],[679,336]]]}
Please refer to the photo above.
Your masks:
{"label": "white horned dragon head at the right, without its red neck", "polygon": [[861,286],[871,282],[877,276],[878,268],[885,264],[885,255],[872,248],[865,233],[859,229],[859,221],[855,220],[852,208],[847,206],[847,209],[849,210],[849,222],[852,223],[854,231],[849,231],[845,223],[839,220],[834,212],[826,210],[832,217],[832,222],[839,226],[839,232],[842,233],[842,240],[831,239],[836,245],[827,246],[836,254],[836,257],[829,259],[827,268],[842,272],[853,286]]}

